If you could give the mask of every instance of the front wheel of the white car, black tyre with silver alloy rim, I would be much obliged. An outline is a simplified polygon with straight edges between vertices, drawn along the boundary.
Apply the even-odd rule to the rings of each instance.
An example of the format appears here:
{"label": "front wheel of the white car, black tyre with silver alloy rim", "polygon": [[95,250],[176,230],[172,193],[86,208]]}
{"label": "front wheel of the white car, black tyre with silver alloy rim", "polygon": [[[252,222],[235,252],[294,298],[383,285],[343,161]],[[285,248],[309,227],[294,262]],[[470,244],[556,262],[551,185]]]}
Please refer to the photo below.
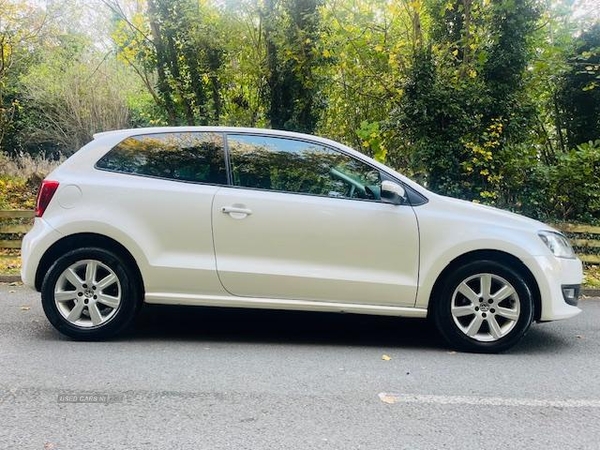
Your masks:
{"label": "front wheel of the white car, black tyre with silver alloy rim", "polygon": [[433,319],[457,350],[502,352],[519,342],[533,320],[529,286],[495,261],[474,261],[443,280],[433,300]]}

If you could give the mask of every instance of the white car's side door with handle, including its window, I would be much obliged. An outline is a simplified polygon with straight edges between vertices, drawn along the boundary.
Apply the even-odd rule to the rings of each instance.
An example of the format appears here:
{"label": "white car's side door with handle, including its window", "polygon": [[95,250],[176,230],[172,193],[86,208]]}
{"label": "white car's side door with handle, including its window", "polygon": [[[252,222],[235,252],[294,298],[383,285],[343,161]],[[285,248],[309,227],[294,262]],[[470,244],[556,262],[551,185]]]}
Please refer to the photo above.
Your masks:
{"label": "white car's side door with handle, including its window", "polygon": [[215,195],[219,278],[233,295],[413,306],[418,229],[379,200],[379,170],[292,139],[228,136],[233,182]]}

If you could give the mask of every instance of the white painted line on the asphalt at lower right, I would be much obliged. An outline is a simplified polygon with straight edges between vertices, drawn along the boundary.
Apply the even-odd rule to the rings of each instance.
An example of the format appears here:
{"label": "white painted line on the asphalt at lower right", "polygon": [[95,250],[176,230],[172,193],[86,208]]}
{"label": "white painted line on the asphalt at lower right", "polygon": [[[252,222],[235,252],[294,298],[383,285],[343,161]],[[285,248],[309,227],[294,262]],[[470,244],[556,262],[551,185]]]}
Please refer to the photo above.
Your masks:
{"label": "white painted line on the asphalt at lower right", "polygon": [[480,406],[530,406],[536,408],[600,408],[600,400],[564,399],[547,400],[536,398],[503,398],[463,395],[417,395],[381,392],[379,399],[384,403],[429,403],[438,405]]}

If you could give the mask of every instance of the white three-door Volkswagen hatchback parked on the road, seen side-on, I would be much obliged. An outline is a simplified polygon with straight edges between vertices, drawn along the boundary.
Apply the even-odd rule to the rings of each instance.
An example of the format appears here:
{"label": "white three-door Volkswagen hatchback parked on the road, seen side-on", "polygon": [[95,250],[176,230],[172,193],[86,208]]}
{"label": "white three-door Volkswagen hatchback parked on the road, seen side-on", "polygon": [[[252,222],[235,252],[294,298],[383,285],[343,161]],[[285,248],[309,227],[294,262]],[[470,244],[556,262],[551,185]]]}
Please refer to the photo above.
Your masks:
{"label": "white three-door Volkswagen hatchback parked on the road, seen side-on", "polygon": [[580,312],[558,231],[274,130],[97,134],[42,182],[22,257],[49,321],[83,340],[146,302],[429,317],[451,346],[498,352]]}

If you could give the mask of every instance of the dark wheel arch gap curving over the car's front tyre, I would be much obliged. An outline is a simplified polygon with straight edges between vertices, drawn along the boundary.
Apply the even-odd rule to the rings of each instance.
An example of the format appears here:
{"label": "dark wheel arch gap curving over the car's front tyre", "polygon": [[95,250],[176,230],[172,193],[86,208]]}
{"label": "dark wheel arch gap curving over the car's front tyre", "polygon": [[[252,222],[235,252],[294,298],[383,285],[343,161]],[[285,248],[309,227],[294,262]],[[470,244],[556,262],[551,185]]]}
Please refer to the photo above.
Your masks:
{"label": "dark wheel arch gap curving over the car's front tyre", "polygon": [[441,287],[443,286],[444,280],[448,277],[448,275],[460,266],[482,260],[501,263],[507,266],[509,269],[516,271],[523,277],[527,283],[527,286],[529,286],[531,295],[533,297],[533,320],[539,320],[542,314],[542,299],[539,286],[535,277],[533,276],[533,273],[519,258],[500,250],[475,250],[458,256],[452,260],[444,268],[444,270],[442,270],[437,277],[435,284],[433,285],[433,289],[431,290],[431,294],[429,296],[430,307],[428,308],[428,316],[431,316],[433,308],[437,306],[437,299],[439,298]]}

